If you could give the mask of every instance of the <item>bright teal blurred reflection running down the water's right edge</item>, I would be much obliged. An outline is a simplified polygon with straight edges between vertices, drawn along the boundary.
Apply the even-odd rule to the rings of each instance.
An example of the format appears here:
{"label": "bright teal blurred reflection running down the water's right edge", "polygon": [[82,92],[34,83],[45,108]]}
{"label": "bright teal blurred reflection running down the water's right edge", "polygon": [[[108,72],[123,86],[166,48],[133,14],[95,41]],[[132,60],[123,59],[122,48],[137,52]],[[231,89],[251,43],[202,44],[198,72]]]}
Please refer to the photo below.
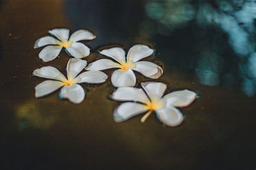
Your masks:
{"label": "bright teal blurred reflection running down the water's right edge", "polygon": [[[218,25],[227,34],[228,44],[236,56],[240,58],[239,62],[236,63],[237,68],[239,67],[236,79],[241,78],[241,89],[248,96],[253,96],[256,80],[254,76],[256,71],[255,36],[253,33],[255,31],[256,3],[255,1],[218,1],[218,6],[219,9],[215,10],[213,6],[203,4],[199,10],[207,14],[203,16],[210,16],[204,18],[205,24]],[[209,18],[211,19],[209,20]],[[225,78],[234,81],[233,75],[234,73],[225,74]],[[226,80],[224,85],[234,84],[228,83]]]}

